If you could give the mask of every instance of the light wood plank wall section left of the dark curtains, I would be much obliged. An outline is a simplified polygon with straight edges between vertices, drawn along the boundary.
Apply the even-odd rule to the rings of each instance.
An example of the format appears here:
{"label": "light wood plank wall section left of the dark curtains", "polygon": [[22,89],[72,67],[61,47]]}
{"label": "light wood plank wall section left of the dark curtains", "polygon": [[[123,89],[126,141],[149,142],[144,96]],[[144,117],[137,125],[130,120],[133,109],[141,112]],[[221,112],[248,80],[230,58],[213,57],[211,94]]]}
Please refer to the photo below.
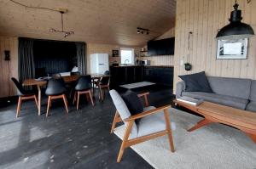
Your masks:
{"label": "light wood plank wall section left of the dark curtains", "polygon": [[[4,60],[4,50],[10,51],[9,62]],[[18,77],[18,38],[0,37],[0,98],[15,95],[12,76]]]}

